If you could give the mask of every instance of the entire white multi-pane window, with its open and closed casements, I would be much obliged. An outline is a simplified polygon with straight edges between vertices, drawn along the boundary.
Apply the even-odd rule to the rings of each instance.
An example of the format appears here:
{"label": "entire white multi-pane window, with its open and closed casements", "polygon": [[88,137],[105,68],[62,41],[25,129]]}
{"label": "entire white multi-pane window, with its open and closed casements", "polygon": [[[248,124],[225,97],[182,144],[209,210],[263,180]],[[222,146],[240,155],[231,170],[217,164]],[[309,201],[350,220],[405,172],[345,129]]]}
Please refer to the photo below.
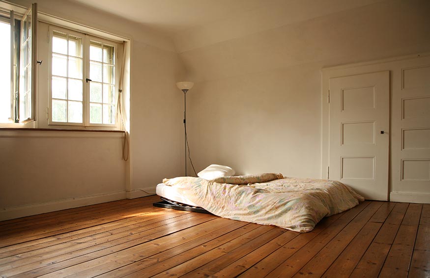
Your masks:
{"label": "entire white multi-pane window, with its open and closed casements", "polygon": [[36,4],[26,10],[0,0],[0,126],[121,129],[128,39],[43,13],[39,19]]}

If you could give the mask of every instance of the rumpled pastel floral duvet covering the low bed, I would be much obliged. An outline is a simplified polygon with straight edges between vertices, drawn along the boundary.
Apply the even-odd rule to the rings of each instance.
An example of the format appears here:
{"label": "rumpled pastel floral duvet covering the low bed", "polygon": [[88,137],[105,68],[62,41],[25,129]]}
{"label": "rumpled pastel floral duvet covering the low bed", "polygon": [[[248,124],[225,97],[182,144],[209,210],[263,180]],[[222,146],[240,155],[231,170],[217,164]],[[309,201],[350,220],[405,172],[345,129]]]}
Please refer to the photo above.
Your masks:
{"label": "rumpled pastel floral duvet covering the low bed", "polygon": [[163,183],[214,215],[309,232],[323,217],[348,210],[361,195],[337,181],[286,178],[282,174],[164,179]]}

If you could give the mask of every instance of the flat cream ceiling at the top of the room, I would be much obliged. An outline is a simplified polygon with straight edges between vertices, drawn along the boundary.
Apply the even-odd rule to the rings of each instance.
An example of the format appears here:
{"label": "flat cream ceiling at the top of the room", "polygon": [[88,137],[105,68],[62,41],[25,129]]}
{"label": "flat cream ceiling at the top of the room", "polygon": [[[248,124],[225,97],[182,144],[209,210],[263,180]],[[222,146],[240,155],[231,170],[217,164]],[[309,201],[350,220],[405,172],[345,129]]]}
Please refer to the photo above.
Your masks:
{"label": "flat cream ceiling at the top of the room", "polygon": [[279,0],[72,0],[167,35],[256,10]]}

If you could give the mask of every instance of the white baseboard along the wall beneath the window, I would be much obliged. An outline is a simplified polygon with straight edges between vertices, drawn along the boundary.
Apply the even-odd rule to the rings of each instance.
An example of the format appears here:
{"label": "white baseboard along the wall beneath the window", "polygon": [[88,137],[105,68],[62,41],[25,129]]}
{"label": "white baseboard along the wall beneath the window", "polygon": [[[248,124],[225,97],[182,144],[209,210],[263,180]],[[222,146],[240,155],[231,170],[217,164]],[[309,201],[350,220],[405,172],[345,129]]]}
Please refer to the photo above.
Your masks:
{"label": "white baseboard along the wall beneath the window", "polygon": [[77,198],[69,198],[51,202],[30,204],[25,206],[17,206],[4,208],[0,210],[0,221],[15,219],[24,216],[36,215],[57,210],[82,207],[98,203],[122,200],[126,198],[125,191],[118,191],[99,195],[90,195]]}

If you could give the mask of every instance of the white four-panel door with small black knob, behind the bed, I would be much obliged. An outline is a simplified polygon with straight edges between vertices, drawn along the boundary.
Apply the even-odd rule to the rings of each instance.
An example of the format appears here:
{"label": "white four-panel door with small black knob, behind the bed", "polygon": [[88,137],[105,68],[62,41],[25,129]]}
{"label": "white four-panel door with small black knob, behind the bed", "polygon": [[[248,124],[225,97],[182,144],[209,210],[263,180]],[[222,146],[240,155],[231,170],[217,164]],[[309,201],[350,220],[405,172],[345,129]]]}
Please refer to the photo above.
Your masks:
{"label": "white four-panel door with small black knob, behind the bed", "polygon": [[390,73],[330,78],[329,178],[388,200]]}

